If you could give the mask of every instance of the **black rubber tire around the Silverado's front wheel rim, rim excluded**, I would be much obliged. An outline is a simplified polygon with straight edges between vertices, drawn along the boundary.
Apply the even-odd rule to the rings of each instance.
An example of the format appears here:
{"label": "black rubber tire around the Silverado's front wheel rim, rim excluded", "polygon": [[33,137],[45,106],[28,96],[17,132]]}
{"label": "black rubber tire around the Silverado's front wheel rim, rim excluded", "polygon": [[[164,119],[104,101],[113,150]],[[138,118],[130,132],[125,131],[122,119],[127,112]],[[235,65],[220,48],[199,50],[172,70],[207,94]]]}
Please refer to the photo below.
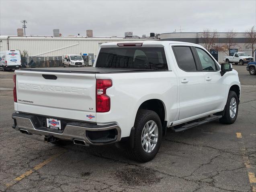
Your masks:
{"label": "black rubber tire around the Silverado's front wheel rim, rim excluded", "polygon": [[[230,106],[230,102],[231,102],[232,98],[235,98],[235,100],[236,100],[236,114],[233,118],[231,117],[230,112],[229,112],[229,106]],[[229,91],[228,96],[227,96],[227,103],[226,103],[225,109],[223,111],[224,115],[219,120],[219,122],[221,122],[223,124],[233,124],[236,121],[236,118],[238,116],[238,103],[239,103],[239,100],[238,100],[238,96],[237,96],[236,92]]]}

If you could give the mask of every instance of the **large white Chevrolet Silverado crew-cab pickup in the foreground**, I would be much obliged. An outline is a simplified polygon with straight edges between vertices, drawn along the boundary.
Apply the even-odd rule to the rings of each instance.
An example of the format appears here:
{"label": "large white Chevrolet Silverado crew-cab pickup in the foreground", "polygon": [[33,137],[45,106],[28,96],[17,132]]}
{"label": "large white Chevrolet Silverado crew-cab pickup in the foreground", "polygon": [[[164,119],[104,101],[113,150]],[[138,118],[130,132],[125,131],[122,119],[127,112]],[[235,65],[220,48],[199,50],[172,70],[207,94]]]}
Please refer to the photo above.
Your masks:
{"label": "large white Chevrolet Silverado crew-cab pickup in the foreground", "polygon": [[54,144],[117,143],[141,162],[157,154],[166,128],[235,122],[241,93],[231,64],[171,41],[104,43],[93,67],[24,68],[14,84],[14,129]]}

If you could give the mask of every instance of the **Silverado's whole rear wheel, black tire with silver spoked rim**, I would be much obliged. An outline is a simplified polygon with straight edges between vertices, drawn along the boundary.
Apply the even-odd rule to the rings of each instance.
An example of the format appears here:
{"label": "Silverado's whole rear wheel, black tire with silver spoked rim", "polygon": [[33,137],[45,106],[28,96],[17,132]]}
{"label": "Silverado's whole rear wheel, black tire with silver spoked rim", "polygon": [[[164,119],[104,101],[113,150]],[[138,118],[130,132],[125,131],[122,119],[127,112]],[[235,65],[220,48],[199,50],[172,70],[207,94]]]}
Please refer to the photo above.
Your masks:
{"label": "Silverado's whole rear wheel, black tire with silver spoked rim", "polygon": [[139,162],[152,160],[161,145],[162,124],[152,110],[139,110],[135,119],[134,147],[128,149],[131,158]]}

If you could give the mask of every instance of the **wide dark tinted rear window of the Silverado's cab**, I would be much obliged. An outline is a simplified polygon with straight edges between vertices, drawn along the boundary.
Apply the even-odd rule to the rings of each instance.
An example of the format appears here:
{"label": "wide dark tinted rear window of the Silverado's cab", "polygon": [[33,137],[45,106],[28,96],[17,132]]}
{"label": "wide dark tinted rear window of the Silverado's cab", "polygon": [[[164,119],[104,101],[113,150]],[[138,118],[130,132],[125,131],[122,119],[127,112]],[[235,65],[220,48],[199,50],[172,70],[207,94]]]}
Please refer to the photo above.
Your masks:
{"label": "wide dark tinted rear window of the Silverado's cab", "polygon": [[168,70],[163,47],[101,48],[96,67]]}

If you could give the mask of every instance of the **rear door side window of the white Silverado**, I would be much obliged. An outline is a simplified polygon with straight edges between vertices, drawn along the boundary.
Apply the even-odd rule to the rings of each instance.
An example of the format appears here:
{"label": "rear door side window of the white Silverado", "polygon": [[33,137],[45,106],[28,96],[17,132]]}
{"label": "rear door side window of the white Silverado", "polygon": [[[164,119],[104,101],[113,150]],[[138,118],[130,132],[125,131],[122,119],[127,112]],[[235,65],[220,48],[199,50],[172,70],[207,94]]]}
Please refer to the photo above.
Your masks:
{"label": "rear door side window of the white Silverado", "polygon": [[196,71],[196,63],[190,47],[173,46],[174,54],[179,68],[184,71]]}

